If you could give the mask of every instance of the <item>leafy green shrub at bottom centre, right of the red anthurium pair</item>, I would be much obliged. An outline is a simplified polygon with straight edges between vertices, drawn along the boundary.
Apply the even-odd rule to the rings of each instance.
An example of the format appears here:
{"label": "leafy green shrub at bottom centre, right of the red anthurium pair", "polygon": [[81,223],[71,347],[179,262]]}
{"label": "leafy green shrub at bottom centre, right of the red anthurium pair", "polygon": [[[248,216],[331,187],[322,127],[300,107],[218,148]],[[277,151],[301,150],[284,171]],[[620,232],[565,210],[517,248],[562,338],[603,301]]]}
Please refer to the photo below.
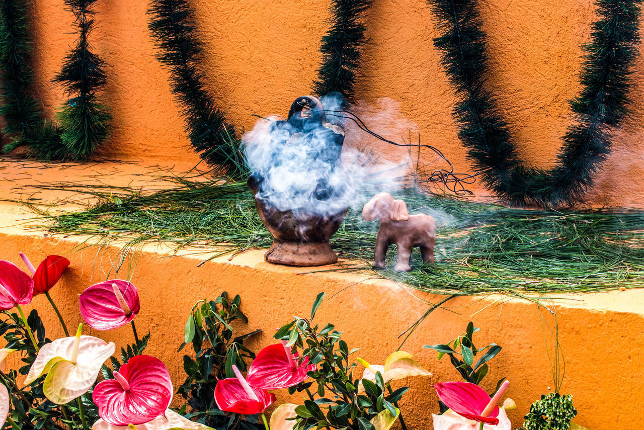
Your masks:
{"label": "leafy green shrub at bottom centre, right of the red anthurium pair", "polygon": [[[333,324],[312,323],[324,295],[317,295],[310,318],[296,318],[279,328],[274,336],[287,341],[286,346],[293,350],[301,348],[299,360],[308,357],[310,363],[316,364],[316,369],[308,372],[314,379],[312,382],[289,389],[290,393],[305,391],[308,395],[308,400],[295,409],[298,417],[294,429],[374,430],[370,420],[385,409],[396,416],[399,411],[395,403],[408,387],[393,391],[380,372],[376,374],[375,383],[354,378],[357,364],[349,356],[357,349],[349,349],[341,339],[343,332],[337,331]],[[359,390],[360,383],[365,388],[364,393]],[[313,384],[317,389],[311,392]]]}

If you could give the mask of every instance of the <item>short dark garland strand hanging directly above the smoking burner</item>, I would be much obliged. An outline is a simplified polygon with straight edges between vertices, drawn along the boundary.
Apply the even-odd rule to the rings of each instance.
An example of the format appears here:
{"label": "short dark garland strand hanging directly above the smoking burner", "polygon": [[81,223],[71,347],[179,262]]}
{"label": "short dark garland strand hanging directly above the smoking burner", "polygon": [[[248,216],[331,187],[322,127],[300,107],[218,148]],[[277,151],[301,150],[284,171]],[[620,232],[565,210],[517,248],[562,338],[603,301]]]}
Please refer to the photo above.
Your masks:
{"label": "short dark garland strand hanging directly above the smoking burner", "polygon": [[322,65],[313,84],[317,95],[340,93],[353,102],[355,75],[361,65],[365,26],[360,22],[371,0],[331,0],[331,27],[322,38]]}

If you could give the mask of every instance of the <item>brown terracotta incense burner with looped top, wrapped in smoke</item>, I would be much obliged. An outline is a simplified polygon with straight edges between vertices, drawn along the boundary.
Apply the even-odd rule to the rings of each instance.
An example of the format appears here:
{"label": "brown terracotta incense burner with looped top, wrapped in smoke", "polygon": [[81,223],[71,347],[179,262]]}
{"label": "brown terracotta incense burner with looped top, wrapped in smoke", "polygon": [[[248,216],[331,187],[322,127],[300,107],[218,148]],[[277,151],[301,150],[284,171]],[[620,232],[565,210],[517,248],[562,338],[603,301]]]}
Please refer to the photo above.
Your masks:
{"label": "brown terracotta incense burner with looped top, wrapped in smoke", "polygon": [[[275,148],[275,151],[279,151],[280,159],[293,149],[295,165],[322,163],[329,166],[330,171],[339,166],[344,131],[326,122],[322,109],[322,103],[317,98],[298,97],[290,107],[287,120],[278,120],[270,125],[271,135],[283,136]],[[274,189],[269,185],[269,180],[261,172],[251,174],[247,184],[255,194],[261,221],[274,238],[264,256],[267,261],[289,266],[321,266],[337,262],[337,255],[328,241],[339,229],[347,207],[338,207],[337,185],[331,183],[330,177],[323,175],[317,178],[312,189],[292,191],[296,197],[294,201],[305,201],[307,204],[281,210],[275,203],[272,195]],[[327,202],[332,204],[326,205]]]}

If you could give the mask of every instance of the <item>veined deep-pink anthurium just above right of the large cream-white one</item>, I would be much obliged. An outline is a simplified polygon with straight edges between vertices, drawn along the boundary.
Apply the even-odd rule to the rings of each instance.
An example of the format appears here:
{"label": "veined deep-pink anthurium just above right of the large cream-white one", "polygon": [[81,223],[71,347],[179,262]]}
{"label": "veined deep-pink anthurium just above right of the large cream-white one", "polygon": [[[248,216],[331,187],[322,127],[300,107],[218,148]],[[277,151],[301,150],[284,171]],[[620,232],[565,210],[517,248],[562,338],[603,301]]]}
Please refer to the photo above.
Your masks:
{"label": "veined deep-pink anthurium just above right of the large cream-white one", "polygon": [[122,327],[132,321],[140,309],[137,288],[122,279],[88,286],[79,300],[82,319],[96,330]]}

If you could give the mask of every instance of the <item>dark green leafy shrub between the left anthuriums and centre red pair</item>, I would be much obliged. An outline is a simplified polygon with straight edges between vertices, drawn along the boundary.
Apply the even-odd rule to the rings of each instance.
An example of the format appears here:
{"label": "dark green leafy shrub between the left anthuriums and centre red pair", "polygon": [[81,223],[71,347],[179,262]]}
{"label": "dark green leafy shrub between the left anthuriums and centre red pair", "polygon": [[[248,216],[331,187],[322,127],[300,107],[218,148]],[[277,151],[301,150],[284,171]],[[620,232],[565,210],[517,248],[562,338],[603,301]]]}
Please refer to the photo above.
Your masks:
{"label": "dark green leafy shrub between the left anthuriums and centre red pair", "polygon": [[[229,298],[226,292],[211,301],[200,301],[193,306],[185,323],[185,339],[179,348],[192,346],[195,357],[184,355],[185,382],[177,393],[187,398],[191,412],[184,414],[218,430],[257,430],[257,416],[224,413],[214,401],[214,388],[219,379],[234,378],[232,366],[246,371],[245,359],[252,360],[255,353],[243,342],[260,330],[234,336],[233,321],[248,323],[240,309],[240,296]],[[182,412],[185,412],[182,411]]]}

